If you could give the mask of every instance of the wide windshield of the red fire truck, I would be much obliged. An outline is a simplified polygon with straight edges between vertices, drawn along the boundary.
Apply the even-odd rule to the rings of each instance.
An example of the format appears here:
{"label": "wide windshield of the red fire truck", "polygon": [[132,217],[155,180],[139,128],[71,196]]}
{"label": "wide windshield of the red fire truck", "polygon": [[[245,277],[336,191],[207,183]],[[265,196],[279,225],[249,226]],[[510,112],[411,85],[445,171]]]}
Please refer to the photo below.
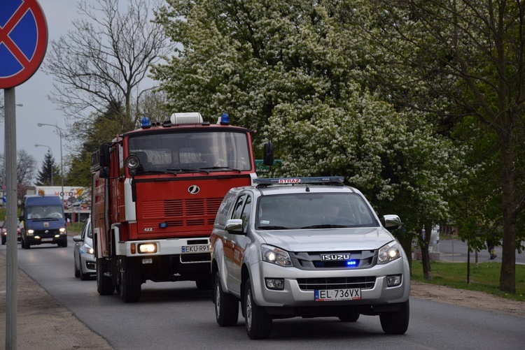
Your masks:
{"label": "wide windshield of the red fire truck", "polygon": [[137,173],[165,170],[251,170],[248,138],[235,131],[151,133],[130,136],[127,154],[140,160]]}

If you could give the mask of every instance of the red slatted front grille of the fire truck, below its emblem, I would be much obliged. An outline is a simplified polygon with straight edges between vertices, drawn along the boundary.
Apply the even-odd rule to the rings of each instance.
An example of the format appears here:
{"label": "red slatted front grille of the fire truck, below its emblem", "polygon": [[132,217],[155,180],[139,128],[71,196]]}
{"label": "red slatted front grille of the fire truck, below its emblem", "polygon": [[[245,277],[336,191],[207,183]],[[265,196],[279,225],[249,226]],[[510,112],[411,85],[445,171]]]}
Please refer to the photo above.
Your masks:
{"label": "red slatted front grille of the fire truck, below its emblem", "polygon": [[223,198],[152,200],[142,206],[144,219],[164,214],[169,226],[213,225]]}

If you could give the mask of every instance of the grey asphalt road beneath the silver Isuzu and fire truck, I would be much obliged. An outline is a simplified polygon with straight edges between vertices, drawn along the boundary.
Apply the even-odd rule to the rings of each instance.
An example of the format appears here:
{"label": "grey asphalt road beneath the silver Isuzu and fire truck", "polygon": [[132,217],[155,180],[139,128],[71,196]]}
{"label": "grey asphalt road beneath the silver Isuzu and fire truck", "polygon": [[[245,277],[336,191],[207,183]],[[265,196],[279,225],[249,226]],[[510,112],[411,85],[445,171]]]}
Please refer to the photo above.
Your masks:
{"label": "grey asphalt road beneath the silver Isuzu and fire truck", "polygon": [[418,298],[411,298],[405,335],[385,335],[379,317],[361,316],[356,323],[276,320],[269,340],[253,341],[240,315],[237,326],[218,327],[210,292],[193,282],[148,282],[138,303],[99,296],[94,279],[73,276],[69,240],[67,248],[18,245],[18,267],[115,349],[520,349],[525,341],[522,318]]}

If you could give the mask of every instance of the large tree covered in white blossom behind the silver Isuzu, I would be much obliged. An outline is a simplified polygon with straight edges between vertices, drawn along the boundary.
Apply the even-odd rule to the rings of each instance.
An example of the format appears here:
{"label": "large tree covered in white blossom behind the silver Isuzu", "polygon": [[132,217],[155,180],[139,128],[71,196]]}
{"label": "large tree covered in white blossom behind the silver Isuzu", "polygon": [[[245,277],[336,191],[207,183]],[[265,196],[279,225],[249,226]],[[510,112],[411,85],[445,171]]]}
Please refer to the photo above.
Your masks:
{"label": "large tree covered in white blossom behind the silver Isuzu", "polygon": [[282,175],[344,175],[377,210],[402,215],[406,251],[423,224],[447,217],[458,148],[425,111],[398,109],[365,79],[373,59],[343,24],[348,13],[371,18],[367,3],[167,2],[157,21],[181,46],[153,74],[174,110],[228,111],[262,131]]}

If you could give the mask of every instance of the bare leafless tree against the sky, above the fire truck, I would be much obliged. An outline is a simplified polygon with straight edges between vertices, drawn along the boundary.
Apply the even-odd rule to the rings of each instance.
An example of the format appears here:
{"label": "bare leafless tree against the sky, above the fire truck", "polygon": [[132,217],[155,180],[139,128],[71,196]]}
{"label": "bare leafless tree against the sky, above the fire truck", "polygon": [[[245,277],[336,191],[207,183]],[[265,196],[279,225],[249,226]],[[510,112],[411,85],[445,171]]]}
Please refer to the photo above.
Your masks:
{"label": "bare leafless tree against the sky, above the fire truck", "polygon": [[[139,105],[148,91],[140,84],[150,64],[171,46],[162,27],[148,17],[149,0],[126,2],[127,12],[120,11],[123,1],[95,2],[80,1],[78,10],[84,19],[73,21],[75,29],[50,43],[43,71],[57,83],[49,98],[73,119],[85,111],[103,113],[118,102],[123,108],[113,113],[119,117],[120,132],[129,131],[140,115],[132,105]],[[158,1],[152,2],[157,6]]]}

